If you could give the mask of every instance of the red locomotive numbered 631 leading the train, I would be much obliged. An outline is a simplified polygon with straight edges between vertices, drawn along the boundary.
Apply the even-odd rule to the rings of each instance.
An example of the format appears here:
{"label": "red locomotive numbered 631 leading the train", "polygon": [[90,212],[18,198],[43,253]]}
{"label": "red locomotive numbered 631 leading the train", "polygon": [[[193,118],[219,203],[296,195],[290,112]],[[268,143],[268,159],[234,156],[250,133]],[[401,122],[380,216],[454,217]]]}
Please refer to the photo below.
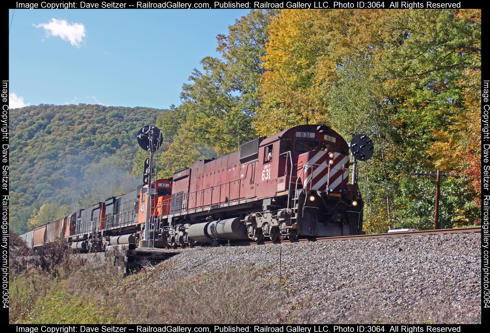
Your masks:
{"label": "red locomotive numbered 631 leading the train", "polygon": [[345,140],[320,125],[289,128],[200,160],[173,175],[165,246],[249,238],[261,242],[362,232],[363,202],[349,184]]}

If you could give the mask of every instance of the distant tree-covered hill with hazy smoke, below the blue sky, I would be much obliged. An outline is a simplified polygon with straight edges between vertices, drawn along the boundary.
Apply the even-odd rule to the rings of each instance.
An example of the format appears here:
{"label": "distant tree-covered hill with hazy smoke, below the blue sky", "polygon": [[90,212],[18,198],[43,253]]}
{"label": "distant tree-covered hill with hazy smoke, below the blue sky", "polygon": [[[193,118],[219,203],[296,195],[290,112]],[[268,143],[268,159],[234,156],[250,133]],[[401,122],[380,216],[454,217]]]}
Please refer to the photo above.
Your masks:
{"label": "distant tree-covered hill with hazy smoke, below the blue sky", "polygon": [[164,112],[87,104],[10,110],[13,230],[26,231],[31,215],[52,218],[136,188],[141,179],[129,176],[136,134]]}

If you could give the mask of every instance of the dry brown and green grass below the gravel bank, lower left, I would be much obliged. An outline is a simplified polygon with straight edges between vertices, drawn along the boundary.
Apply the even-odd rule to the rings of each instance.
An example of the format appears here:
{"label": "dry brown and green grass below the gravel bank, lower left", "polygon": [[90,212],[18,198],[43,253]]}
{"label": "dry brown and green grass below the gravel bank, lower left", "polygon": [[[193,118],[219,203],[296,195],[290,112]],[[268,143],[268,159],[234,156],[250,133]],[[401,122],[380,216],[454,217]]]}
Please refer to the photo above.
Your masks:
{"label": "dry brown and green grass below the gravel bank, lower left", "polygon": [[[60,256],[44,257],[42,262]],[[43,270],[39,265],[12,275],[9,322],[278,321],[279,295],[270,282],[262,279],[260,270],[225,268],[188,277],[174,274],[172,279],[166,280],[160,277],[163,271],[168,273],[172,267],[169,264],[147,265],[138,274],[123,278],[111,266],[65,256],[49,270]]]}

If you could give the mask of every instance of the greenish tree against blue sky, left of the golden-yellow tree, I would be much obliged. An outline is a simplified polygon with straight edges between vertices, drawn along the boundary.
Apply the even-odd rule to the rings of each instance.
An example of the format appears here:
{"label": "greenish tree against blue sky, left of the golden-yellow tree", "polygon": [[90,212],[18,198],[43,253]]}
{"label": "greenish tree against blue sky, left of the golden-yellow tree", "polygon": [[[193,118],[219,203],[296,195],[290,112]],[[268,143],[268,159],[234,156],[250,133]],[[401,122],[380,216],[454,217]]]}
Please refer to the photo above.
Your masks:
{"label": "greenish tree against blue sky, left of the golden-yellow tree", "polygon": [[166,177],[197,158],[236,151],[256,137],[262,57],[268,40],[270,10],[252,10],[217,36],[221,58],[205,57],[182,86],[181,105],[157,120],[166,151],[159,158]]}

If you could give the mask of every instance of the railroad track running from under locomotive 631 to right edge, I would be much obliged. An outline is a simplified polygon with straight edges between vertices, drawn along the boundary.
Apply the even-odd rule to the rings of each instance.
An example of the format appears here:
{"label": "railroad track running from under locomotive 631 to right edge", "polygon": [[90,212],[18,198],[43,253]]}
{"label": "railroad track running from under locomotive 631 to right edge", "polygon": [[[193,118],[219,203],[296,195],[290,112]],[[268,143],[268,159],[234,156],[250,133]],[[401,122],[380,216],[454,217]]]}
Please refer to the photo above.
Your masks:
{"label": "railroad track running from under locomotive 631 to right edge", "polygon": [[[391,233],[374,233],[374,234],[370,234],[370,235],[303,238],[303,239],[295,239],[295,240],[279,240],[276,242],[269,241],[269,242],[261,242],[261,243],[255,243],[253,241],[250,241],[250,242],[230,243],[229,246],[247,246],[247,245],[253,246],[253,245],[262,245],[262,244],[327,242],[327,241],[331,241],[331,240],[368,239],[368,238],[382,238],[382,237],[435,235],[435,234],[440,234],[440,233],[449,234],[449,233],[476,233],[476,232],[482,232],[482,228],[471,227],[471,228],[455,228],[455,229],[404,231],[404,232],[391,232]],[[216,246],[227,246],[227,245],[216,245]],[[203,245],[203,246],[206,247],[206,245]],[[201,247],[201,246],[198,246],[198,247]]]}

